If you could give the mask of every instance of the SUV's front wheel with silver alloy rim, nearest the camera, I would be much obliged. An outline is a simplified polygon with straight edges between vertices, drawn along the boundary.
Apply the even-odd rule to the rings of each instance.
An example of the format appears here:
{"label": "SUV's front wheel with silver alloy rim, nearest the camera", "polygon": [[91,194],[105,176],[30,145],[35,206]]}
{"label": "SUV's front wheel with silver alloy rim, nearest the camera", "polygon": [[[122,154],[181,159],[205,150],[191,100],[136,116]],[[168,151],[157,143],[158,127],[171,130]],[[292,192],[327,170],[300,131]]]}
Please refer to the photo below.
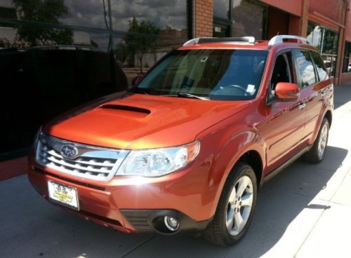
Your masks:
{"label": "SUV's front wheel with silver alloy rim, nearest the camera", "polygon": [[[216,214],[204,231],[204,238],[215,245],[225,247],[241,240],[251,223],[256,207],[256,196],[255,172],[246,163],[237,163],[225,182]],[[238,224],[240,218],[241,224]]]}

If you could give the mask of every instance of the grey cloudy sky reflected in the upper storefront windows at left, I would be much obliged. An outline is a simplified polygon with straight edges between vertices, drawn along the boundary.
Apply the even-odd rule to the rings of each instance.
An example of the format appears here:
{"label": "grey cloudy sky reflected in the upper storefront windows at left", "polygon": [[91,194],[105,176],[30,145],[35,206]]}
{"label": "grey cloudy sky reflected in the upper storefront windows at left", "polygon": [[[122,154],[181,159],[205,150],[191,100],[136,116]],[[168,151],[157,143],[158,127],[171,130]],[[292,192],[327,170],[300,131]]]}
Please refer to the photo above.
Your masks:
{"label": "grey cloudy sky reflected in the upper storefront windows at left", "polygon": [[[102,0],[65,0],[69,14],[60,21],[67,25],[106,28]],[[107,0],[105,0],[107,8]],[[183,0],[114,0],[112,5],[113,29],[128,30],[133,17],[149,20],[160,29],[187,27],[187,7]],[[108,20],[108,19],[107,19]]]}

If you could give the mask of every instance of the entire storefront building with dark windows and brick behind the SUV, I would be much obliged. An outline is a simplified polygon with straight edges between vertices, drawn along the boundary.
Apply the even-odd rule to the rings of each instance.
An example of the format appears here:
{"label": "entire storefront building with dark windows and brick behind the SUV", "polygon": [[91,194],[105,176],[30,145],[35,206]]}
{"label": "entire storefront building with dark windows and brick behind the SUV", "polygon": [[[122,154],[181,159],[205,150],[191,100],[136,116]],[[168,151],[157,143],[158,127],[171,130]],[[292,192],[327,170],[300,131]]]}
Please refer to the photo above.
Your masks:
{"label": "entire storefront building with dark windows and brick behind the SUV", "polygon": [[351,81],[348,10],[347,0],[0,0],[0,160],[193,37],[305,36],[335,84]]}

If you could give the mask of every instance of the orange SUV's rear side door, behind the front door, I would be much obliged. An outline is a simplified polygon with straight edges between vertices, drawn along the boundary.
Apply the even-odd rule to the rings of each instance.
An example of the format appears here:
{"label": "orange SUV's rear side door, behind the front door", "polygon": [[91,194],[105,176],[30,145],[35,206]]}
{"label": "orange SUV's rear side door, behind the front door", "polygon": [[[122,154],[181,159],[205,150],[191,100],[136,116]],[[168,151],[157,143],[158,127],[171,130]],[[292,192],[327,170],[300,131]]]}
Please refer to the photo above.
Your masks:
{"label": "orange SUV's rear side door, behind the front door", "polygon": [[[300,51],[303,56],[309,62],[314,63],[314,71],[316,82],[310,86],[304,88],[306,91],[305,95],[307,98],[305,100],[306,104],[306,125],[303,130],[303,138],[307,141],[313,137],[319,126],[319,118],[322,116],[324,98],[326,97],[327,90],[332,86],[331,81],[329,81],[328,72],[324,67],[322,58],[317,52],[314,51]],[[296,58],[303,58],[298,51],[293,51],[293,56]],[[312,59],[311,59],[312,57]],[[306,69],[306,68],[305,68]],[[304,80],[302,78],[302,80]]]}

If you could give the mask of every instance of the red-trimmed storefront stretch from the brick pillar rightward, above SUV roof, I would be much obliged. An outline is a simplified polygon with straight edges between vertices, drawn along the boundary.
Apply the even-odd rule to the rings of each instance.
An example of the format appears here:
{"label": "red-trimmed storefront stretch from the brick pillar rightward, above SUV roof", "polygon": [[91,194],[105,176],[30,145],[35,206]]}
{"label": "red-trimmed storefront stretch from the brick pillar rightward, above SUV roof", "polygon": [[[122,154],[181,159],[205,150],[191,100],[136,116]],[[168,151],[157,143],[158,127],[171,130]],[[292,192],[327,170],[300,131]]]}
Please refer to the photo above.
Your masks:
{"label": "red-trimmed storefront stretch from the brick pillar rightward, above SUV roof", "polygon": [[194,36],[305,36],[321,51],[336,84],[351,81],[351,13],[347,0],[194,2]]}

